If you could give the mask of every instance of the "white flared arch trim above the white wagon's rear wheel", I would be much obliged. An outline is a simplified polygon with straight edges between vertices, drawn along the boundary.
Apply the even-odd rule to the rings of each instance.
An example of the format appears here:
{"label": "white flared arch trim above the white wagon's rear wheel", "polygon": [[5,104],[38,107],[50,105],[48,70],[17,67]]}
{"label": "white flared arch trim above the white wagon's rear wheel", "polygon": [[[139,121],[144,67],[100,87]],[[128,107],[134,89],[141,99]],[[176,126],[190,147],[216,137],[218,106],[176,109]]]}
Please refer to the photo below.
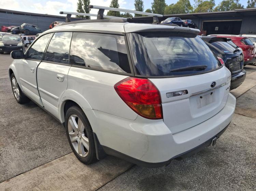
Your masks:
{"label": "white flared arch trim above the white wagon's rear wheel", "polygon": [[72,100],[77,103],[82,109],[93,109],[89,102],[77,91],[67,89],[59,99],[59,120],[61,123],[65,122],[64,117],[64,105],[68,100]]}

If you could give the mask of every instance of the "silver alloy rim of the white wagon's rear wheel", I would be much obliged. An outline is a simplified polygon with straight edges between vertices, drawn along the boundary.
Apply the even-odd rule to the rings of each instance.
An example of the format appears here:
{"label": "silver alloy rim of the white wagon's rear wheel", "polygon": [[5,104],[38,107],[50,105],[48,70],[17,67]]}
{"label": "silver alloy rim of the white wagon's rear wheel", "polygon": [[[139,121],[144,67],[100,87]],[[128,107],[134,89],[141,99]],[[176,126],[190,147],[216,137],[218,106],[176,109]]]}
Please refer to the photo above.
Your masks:
{"label": "silver alloy rim of the white wagon's rear wheel", "polygon": [[68,133],[74,150],[81,157],[86,157],[89,152],[89,139],[85,126],[76,115],[71,115],[68,120]]}

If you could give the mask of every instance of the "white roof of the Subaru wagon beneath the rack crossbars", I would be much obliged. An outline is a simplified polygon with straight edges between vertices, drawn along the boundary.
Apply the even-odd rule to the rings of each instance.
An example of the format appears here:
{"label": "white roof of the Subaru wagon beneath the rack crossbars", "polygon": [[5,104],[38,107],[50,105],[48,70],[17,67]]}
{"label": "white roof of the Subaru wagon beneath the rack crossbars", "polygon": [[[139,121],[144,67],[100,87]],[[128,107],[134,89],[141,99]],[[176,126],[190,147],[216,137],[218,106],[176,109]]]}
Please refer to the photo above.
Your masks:
{"label": "white roof of the Subaru wagon beneath the rack crossbars", "polygon": [[[102,19],[111,20],[111,19]],[[183,31],[198,34],[200,31],[198,29],[176,27],[162,24],[146,24],[146,23],[130,23],[130,22],[68,22],[62,23],[54,27],[53,29],[44,32],[54,32],[54,31],[107,31],[107,32],[121,32],[121,33],[132,33],[132,32],[142,32],[142,31]]]}

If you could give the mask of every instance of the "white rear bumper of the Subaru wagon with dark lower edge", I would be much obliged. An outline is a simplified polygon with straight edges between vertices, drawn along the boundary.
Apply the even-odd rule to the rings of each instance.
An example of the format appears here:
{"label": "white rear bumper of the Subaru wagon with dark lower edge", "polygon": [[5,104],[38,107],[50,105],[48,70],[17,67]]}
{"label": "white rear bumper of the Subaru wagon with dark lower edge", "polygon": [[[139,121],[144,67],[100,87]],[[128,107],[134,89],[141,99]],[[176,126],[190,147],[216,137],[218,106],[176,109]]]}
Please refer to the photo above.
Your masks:
{"label": "white rear bumper of the Subaru wagon with dark lower edge", "polygon": [[225,107],[215,116],[176,134],[172,134],[163,120],[140,116],[127,120],[92,109],[84,112],[105,153],[154,168],[209,146],[231,122],[235,106],[236,98],[229,93]]}

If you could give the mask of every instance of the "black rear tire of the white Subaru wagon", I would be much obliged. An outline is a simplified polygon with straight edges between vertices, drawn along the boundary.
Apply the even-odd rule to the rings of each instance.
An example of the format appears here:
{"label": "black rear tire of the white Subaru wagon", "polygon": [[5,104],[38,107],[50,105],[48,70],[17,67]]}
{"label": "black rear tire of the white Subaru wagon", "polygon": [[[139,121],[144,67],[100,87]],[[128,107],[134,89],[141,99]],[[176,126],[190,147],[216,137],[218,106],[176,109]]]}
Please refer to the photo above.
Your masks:
{"label": "black rear tire of the white Subaru wagon", "polygon": [[[87,136],[88,138],[88,142],[89,142],[89,150],[87,150],[85,147],[84,149],[86,149],[88,151],[87,155],[85,157],[82,157],[78,154],[78,152],[74,149],[74,146],[72,145],[72,142],[70,140],[70,136],[69,136],[69,129],[68,129],[68,121],[70,119],[70,117],[72,116],[77,116],[83,123],[84,125],[84,135]],[[78,120],[78,119],[77,119]],[[77,122],[78,123],[78,122]],[[96,158],[96,150],[95,150],[95,143],[94,143],[94,136],[93,136],[93,129],[91,128],[91,125],[87,119],[87,117],[85,116],[83,110],[79,107],[79,106],[71,106],[67,112],[66,112],[66,116],[65,116],[65,128],[66,128],[66,135],[68,137],[68,141],[70,144],[70,147],[73,151],[73,153],[75,154],[75,156],[83,163],[85,164],[91,164],[94,163],[95,161],[97,161]],[[72,133],[72,132],[71,132]],[[74,131],[74,133],[76,133]],[[78,134],[78,133],[77,133]],[[79,135],[77,135],[77,140],[79,139]],[[81,140],[81,139],[80,139]],[[78,141],[73,141],[73,143],[78,143]]]}

